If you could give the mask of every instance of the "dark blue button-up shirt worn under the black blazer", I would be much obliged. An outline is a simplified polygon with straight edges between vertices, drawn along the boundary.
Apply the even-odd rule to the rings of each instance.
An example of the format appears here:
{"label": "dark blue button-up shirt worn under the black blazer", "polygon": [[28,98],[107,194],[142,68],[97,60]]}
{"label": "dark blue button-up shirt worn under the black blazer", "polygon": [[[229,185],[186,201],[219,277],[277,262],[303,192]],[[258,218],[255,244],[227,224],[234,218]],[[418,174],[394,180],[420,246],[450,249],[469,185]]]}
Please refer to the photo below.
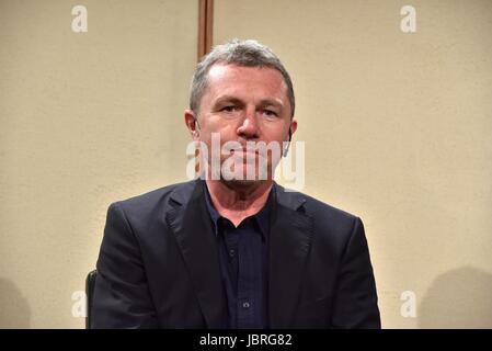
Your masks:
{"label": "dark blue button-up shirt worn under the black blazer", "polygon": [[229,312],[228,327],[268,328],[267,248],[273,190],[265,206],[236,227],[219,215],[206,185],[205,189],[219,248],[220,272]]}

